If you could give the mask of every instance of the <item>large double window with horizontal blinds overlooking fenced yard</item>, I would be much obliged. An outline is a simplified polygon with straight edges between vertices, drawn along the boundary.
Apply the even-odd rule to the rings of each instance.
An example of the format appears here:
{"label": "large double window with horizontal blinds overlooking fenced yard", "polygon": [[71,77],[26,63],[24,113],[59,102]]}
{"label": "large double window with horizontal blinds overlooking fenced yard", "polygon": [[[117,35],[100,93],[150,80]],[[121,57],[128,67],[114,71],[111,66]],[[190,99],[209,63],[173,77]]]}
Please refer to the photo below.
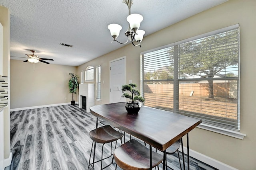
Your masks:
{"label": "large double window with horizontal blinds overlooking fenced yard", "polygon": [[145,106],[240,130],[239,25],[142,54]]}

